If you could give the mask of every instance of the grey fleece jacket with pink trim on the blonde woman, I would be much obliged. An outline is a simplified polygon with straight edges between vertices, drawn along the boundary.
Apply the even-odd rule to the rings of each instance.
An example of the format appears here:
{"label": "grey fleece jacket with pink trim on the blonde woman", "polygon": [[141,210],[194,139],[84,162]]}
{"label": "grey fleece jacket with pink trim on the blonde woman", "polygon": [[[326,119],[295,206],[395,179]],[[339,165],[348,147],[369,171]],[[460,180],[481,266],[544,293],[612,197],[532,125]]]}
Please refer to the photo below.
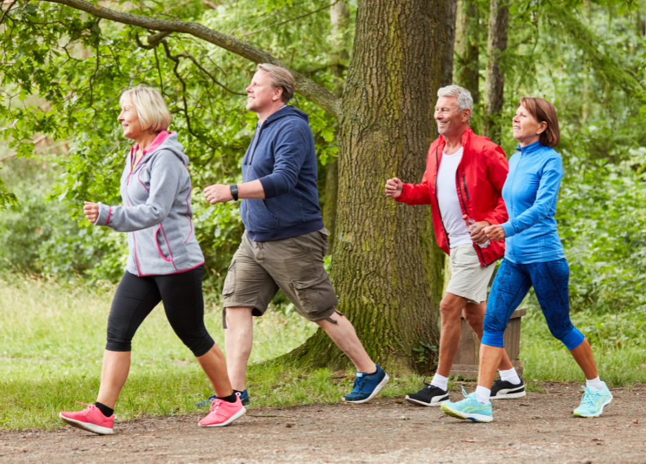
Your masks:
{"label": "grey fleece jacket with pink trim on the blonde woman", "polygon": [[126,270],[135,276],[190,271],[204,257],[191,222],[188,157],[175,132],[159,133],[133,166],[138,149],[131,148],[121,176],[124,206],[98,203],[95,225],[129,232]]}

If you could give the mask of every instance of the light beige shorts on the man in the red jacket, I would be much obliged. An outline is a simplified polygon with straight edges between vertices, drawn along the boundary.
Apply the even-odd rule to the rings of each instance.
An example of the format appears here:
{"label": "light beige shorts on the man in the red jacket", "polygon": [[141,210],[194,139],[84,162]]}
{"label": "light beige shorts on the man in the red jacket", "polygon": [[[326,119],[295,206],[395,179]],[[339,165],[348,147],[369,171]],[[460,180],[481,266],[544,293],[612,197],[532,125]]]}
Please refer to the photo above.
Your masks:
{"label": "light beige shorts on the man in the red jacket", "polygon": [[482,267],[474,245],[466,244],[451,249],[449,266],[451,280],[447,285],[447,294],[462,296],[476,305],[487,300],[487,287],[495,263]]}

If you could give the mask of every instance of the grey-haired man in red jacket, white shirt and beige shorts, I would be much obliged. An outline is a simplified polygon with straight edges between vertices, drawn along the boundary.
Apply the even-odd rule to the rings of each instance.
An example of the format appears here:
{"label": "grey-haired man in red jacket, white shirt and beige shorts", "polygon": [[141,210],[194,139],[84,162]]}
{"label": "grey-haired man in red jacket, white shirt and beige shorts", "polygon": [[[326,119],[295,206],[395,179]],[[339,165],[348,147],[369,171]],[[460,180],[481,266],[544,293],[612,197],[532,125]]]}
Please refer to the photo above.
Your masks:
{"label": "grey-haired man in red jacket, white shirt and beige shorts", "polygon": [[[509,172],[504,151],[469,127],[474,100],[467,89],[449,85],[438,91],[435,120],[439,137],[431,144],[421,184],[386,182],[386,195],[408,205],[431,205],[436,241],[450,256],[451,279],[440,303],[440,360],[432,382],[406,396],[412,404],[440,406],[449,399],[448,377],[460,343],[460,316],[482,338],[487,285],[504,242],[487,243],[482,230],[503,223],[507,211],[502,186]],[[471,226],[469,226],[471,222]],[[509,357],[500,363],[492,399],[525,395]],[[495,390],[495,391],[494,391]]]}

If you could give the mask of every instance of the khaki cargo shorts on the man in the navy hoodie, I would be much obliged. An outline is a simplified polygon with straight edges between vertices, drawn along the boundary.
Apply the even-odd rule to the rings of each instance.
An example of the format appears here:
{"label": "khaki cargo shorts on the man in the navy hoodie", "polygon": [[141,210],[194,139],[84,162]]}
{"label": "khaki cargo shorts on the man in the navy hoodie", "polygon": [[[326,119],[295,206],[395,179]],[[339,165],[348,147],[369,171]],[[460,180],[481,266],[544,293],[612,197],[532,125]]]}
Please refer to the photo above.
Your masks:
{"label": "khaki cargo shorts on the man in the navy hoodie", "polygon": [[321,229],[289,239],[254,242],[245,232],[224,280],[223,327],[227,328],[227,307],[251,307],[253,316],[263,316],[278,289],[307,320],[336,322],[330,316],[338,312],[337,297],[323,268],[329,234]]}

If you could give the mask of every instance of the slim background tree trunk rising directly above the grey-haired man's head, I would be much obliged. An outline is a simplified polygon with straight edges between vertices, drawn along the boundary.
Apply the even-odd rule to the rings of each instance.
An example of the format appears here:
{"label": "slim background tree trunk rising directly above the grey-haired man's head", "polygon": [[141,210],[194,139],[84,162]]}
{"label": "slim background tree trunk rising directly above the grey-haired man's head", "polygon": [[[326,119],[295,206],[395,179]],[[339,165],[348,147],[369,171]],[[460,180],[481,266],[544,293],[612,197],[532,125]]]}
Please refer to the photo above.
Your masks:
{"label": "slim background tree trunk rising directly above the grey-haired man's head", "polygon": [[471,92],[474,111],[480,101],[479,91],[479,13],[475,0],[459,0],[456,14],[456,45],[453,80]]}

